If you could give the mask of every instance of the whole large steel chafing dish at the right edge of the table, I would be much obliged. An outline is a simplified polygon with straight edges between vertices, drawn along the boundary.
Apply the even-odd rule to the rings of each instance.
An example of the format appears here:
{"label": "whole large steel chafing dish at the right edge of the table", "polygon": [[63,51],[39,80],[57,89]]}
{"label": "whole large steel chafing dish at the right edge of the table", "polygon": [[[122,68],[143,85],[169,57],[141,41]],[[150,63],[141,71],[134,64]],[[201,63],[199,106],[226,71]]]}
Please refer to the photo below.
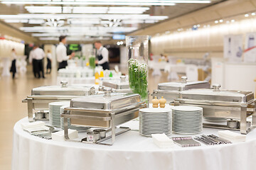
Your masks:
{"label": "whole large steel chafing dish at the right edge of the table", "polygon": [[[240,121],[237,129],[218,123],[204,123],[203,127],[206,128],[240,130],[242,134],[247,134],[256,125],[256,104],[251,91],[220,90],[220,85],[215,84],[212,89],[181,91],[180,97],[174,102],[174,105],[200,106],[203,108],[204,118],[226,118]],[[247,125],[249,116],[252,116],[252,123]]]}

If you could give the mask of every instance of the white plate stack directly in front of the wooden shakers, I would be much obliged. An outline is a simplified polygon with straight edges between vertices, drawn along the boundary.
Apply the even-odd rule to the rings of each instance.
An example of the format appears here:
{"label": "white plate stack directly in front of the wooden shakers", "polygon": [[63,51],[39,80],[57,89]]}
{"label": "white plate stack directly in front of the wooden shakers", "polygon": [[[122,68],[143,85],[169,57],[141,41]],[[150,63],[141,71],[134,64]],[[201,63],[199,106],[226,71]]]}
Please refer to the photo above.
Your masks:
{"label": "white plate stack directly in front of the wooden shakers", "polygon": [[149,137],[159,133],[171,135],[171,110],[166,108],[139,109],[139,133]]}

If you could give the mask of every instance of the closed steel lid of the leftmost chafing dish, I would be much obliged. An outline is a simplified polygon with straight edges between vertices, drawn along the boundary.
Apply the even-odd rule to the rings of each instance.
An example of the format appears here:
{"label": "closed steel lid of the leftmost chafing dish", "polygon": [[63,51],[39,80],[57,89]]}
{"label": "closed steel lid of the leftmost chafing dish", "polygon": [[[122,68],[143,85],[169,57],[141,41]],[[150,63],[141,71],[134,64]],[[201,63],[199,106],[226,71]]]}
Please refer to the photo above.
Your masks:
{"label": "closed steel lid of the leftmost chafing dish", "polygon": [[67,86],[67,82],[62,81],[61,86],[40,86],[33,88],[32,96],[84,96],[95,94],[94,87]]}

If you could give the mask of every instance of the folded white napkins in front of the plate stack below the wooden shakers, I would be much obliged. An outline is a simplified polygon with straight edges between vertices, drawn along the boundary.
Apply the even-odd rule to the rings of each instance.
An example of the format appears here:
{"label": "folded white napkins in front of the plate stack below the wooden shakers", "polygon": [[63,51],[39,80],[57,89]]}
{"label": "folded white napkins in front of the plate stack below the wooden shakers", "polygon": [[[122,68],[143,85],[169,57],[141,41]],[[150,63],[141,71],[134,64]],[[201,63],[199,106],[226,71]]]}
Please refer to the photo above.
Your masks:
{"label": "folded white napkins in front of the plate stack below the wooden shakers", "polygon": [[158,147],[174,147],[174,141],[163,134],[152,134],[152,139]]}

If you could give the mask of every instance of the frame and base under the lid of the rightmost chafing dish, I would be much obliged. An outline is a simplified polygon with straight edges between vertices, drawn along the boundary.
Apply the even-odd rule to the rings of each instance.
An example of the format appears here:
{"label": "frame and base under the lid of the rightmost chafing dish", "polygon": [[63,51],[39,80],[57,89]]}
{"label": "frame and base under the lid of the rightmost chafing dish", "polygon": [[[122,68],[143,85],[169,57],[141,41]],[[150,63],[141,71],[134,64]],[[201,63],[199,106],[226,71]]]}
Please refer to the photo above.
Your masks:
{"label": "frame and base under the lid of the rightmost chafing dish", "polygon": [[[240,128],[228,128],[227,125],[203,123],[203,128],[218,128],[226,130],[240,130],[241,134],[247,134],[256,128],[256,99],[247,103],[220,102],[220,101],[197,101],[178,98],[174,106],[198,106],[203,108],[203,116],[208,118],[230,118],[240,120]],[[249,107],[248,107],[249,106]],[[207,111],[205,111],[207,110]],[[213,112],[208,114],[207,112]],[[235,113],[232,115],[232,113]],[[231,114],[230,114],[231,113]],[[211,116],[210,116],[211,115]],[[215,115],[215,116],[213,116]],[[252,124],[247,128],[247,117],[252,116]]]}

